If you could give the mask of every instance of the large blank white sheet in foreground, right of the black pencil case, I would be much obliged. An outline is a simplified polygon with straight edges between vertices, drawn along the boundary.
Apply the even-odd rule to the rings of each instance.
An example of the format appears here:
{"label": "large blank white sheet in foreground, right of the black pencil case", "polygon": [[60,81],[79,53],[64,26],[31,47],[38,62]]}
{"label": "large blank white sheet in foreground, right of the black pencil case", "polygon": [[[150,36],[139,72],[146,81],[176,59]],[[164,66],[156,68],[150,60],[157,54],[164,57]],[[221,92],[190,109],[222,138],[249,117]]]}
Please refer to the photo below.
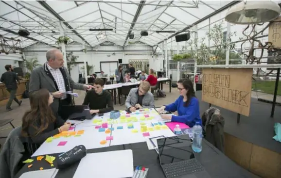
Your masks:
{"label": "large blank white sheet in foreground, right of the black pencil case", "polygon": [[73,178],[131,178],[133,174],[133,151],[126,149],[87,154]]}

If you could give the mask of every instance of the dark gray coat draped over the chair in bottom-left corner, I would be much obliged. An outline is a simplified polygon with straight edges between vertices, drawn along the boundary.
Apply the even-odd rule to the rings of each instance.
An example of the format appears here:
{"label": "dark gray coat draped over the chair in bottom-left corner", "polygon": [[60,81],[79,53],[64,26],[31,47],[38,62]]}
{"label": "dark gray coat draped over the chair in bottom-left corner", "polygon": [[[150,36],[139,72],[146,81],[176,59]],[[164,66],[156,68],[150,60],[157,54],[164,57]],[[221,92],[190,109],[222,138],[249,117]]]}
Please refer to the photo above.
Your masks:
{"label": "dark gray coat draped over the chair in bottom-left corner", "polygon": [[18,172],[18,163],[24,153],[20,133],[21,126],[13,129],[0,152],[0,178],[14,178]]}

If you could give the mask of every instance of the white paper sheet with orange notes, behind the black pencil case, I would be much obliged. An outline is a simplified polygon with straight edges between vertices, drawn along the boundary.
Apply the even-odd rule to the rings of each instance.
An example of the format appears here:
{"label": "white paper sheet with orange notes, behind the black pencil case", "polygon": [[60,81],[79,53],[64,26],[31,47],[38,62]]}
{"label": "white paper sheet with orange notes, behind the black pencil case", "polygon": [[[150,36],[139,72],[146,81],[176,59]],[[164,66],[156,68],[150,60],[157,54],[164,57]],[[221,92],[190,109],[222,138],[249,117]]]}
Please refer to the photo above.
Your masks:
{"label": "white paper sheet with orange notes, behind the black pencil case", "polygon": [[[111,124],[108,124],[108,128],[111,128]],[[75,131],[78,130],[79,129],[75,127]],[[86,149],[101,148],[110,145],[110,142],[107,142],[105,145],[100,144],[102,140],[106,139],[106,136],[110,136],[110,133],[99,132],[99,129],[95,129],[94,126],[84,127],[83,130],[84,134],[79,137],[60,137],[53,139],[53,141],[49,143],[44,142],[32,156],[63,153],[78,145],[84,145]],[[60,142],[65,141],[67,141],[67,143],[64,146],[57,146]]]}

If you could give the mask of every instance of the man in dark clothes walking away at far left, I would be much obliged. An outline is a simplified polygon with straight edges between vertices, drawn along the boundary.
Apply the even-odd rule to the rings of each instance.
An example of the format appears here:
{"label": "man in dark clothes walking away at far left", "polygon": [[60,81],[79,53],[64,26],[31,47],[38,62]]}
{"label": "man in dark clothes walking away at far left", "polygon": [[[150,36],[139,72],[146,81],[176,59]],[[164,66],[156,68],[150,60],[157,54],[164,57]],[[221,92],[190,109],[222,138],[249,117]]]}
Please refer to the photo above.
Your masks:
{"label": "man in dark clothes walking away at far left", "polygon": [[11,108],[11,105],[13,100],[15,100],[18,103],[18,106],[20,106],[22,103],[22,101],[19,101],[18,98],[16,97],[16,93],[18,89],[17,81],[19,82],[19,79],[17,73],[14,72],[12,65],[5,65],[5,69],[7,70],[7,72],[4,72],[2,74],[0,81],[2,83],[5,83],[5,87],[7,91],[10,93],[9,101],[6,104],[6,111],[12,111],[13,109]]}

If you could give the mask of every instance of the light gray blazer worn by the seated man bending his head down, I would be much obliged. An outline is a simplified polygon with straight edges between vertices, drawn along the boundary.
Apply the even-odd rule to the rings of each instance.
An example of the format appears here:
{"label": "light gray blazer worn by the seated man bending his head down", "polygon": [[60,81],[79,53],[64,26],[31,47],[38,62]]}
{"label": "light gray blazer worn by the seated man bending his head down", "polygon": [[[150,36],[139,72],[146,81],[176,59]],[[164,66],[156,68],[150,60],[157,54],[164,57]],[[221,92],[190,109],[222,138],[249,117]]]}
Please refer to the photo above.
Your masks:
{"label": "light gray blazer worn by the seated man bending his head down", "polygon": [[[132,88],[125,101],[126,108],[133,107],[138,102],[138,89]],[[142,99],[142,108],[155,108],[154,97],[151,92],[147,92]]]}

